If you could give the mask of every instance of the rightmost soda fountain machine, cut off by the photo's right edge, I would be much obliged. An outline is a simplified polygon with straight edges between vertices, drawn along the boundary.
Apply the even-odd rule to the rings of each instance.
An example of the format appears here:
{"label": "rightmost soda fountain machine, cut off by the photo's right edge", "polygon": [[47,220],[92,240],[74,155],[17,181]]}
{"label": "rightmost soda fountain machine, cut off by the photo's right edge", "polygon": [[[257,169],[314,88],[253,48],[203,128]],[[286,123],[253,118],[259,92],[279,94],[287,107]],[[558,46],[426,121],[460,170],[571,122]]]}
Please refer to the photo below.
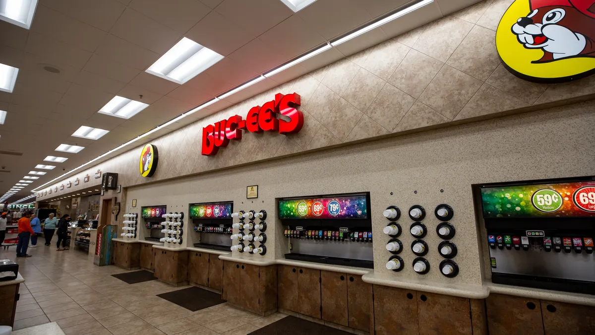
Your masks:
{"label": "rightmost soda fountain machine, cut off by the photo's right edge", "polygon": [[479,191],[493,283],[595,294],[595,177]]}

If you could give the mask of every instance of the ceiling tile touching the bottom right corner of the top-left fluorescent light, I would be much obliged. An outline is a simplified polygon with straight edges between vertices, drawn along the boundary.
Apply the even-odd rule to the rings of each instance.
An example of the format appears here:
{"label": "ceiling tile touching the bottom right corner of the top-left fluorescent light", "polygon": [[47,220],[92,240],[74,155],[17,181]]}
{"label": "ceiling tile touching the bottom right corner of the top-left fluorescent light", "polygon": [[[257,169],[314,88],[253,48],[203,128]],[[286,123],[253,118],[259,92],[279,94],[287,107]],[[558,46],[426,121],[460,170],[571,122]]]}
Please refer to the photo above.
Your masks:
{"label": "ceiling tile touching the bottom right corner of the top-left fluorescent light", "polygon": [[76,69],[82,69],[92,55],[89,51],[35,32],[29,34],[25,50],[32,54],[43,55],[57,66],[71,66]]}

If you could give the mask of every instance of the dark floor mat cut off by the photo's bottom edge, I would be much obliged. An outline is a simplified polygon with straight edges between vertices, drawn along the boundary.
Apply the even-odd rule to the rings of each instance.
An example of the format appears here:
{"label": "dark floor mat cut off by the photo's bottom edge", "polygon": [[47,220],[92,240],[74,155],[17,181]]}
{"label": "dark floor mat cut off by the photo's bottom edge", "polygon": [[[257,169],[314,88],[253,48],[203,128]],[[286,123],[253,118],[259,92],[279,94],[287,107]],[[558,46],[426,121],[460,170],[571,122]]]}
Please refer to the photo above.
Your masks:
{"label": "dark floor mat cut off by the photo's bottom edge", "polygon": [[258,330],[252,331],[248,335],[344,335],[352,334],[337,328],[328,327],[327,325],[318,324],[316,322],[303,320],[300,318],[288,316],[279,321],[275,321],[270,325],[262,327]]}

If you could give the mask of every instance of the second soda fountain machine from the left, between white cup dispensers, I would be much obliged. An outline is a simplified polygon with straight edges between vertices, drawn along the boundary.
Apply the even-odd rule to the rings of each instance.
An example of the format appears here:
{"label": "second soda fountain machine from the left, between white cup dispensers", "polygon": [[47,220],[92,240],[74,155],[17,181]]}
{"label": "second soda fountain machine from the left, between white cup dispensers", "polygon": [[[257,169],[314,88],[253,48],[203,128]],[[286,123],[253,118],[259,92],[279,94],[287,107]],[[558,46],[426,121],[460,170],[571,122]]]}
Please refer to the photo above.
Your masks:
{"label": "second soda fountain machine from the left, between white cup dispensers", "polygon": [[[233,202],[190,204],[190,219],[199,233],[195,247],[228,251],[231,247]],[[196,239],[195,239],[196,241]]]}

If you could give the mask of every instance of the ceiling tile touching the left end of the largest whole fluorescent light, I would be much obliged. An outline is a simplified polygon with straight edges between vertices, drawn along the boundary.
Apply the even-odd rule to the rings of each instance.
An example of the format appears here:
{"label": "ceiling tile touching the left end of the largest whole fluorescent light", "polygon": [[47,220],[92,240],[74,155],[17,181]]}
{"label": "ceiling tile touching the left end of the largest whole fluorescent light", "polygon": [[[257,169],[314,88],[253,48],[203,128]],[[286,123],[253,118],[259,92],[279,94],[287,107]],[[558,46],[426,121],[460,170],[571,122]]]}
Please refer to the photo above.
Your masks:
{"label": "ceiling tile touching the left end of the largest whole fluorescent light", "polygon": [[95,54],[108,57],[139,70],[146,70],[160,57],[151,50],[111,34],[105,38],[101,45],[99,45]]}

